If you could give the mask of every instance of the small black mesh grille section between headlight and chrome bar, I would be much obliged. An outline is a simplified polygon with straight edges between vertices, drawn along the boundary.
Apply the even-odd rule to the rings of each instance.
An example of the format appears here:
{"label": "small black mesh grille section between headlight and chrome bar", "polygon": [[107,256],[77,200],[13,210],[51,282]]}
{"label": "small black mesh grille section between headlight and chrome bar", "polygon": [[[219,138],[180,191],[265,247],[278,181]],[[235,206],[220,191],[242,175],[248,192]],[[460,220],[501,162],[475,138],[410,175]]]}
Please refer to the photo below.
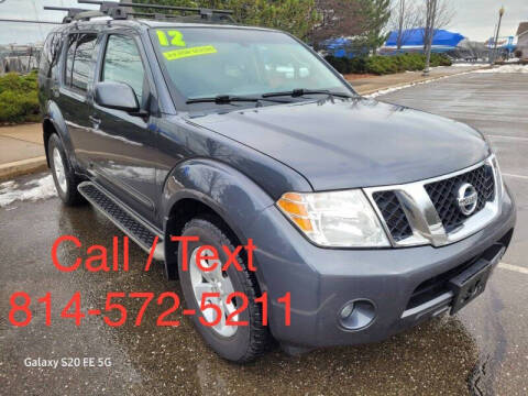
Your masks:
{"label": "small black mesh grille section between headlight and chrome bar", "polygon": [[413,235],[409,221],[402,209],[402,204],[394,191],[380,191],[372,195],[385,219],[388,231],[396,242]]}

